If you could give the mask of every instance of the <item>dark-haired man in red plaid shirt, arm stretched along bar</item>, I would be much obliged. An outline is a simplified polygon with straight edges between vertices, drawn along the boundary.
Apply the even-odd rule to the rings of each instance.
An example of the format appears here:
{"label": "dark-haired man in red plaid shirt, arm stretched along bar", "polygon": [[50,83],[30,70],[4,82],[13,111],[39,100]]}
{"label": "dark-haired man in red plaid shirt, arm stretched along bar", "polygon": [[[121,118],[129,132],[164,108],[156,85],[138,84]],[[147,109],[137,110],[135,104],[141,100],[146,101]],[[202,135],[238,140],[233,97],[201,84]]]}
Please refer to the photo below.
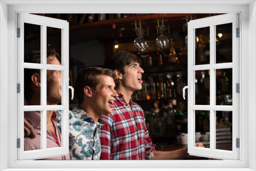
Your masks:
{"label": "dark-haired man in red plaid shirt, arm stretched along bar", "polygon": [[[117,100],[111,114],[101,115],[106,124],[99,132],[101,159],[111,160],[165,160],[190,157],[187,148],[176,151],[156,151],[148,134],[141,107],[131,100],[133,92],[142,89],[140,59],[130,52],[116,52],[105,61],[118,78]],[[196,146],[203,147],[202,143]]]}

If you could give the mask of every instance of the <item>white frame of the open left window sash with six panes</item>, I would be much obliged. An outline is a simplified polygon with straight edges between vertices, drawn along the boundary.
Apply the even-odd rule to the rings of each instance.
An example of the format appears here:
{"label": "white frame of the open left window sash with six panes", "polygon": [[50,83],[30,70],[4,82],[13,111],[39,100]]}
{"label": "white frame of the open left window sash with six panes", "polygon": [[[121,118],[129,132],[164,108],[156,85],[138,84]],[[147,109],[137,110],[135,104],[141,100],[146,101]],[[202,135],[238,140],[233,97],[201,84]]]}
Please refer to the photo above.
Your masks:
{"label": "white frame of the open left window sash with six panes", "polygon": [[[38,25],[41,28],[40,49],[41,63],[24,62],[24,24]],[[47,65],[47,27],[61,30],[61,65]],[[66,156],[69,154],[69,23],[39,15],[18,13],[17,28],[20,29],[20,37],[17,37],[17,83],[20,83],[20,93],[17,94],[17,138],[20,139],[20,147],[17,148],[17,159],[42,159],[54,156]],[[24,105],[24,69],[41,70],[41,105]],[[47,70],[61,71],[61,105],[47,105]],[[47,148],[47,110],[61,110],[61,146]],[[24,112],[41,111],[41,149],[24,151]]]}

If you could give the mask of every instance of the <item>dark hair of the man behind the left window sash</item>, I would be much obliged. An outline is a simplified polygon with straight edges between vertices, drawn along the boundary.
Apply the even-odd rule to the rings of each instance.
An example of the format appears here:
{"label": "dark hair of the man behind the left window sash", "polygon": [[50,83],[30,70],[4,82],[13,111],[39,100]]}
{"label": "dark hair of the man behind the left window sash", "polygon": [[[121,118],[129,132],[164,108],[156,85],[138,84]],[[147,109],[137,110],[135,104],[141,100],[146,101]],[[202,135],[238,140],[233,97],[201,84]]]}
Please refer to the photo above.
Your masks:
{"label": "dark hair of the man behind the left window sash", "polygon": [[[47,61],[53,60],[53,58],[49,57],[56,57],[59,60],[59,55],[55,49],[47,51]],[[41,63],[41,52],[40,51],[31,51],[30,53],[26,54],[24,57],[24,62],[28,63]],[[40,74],[40,70],[37,69],[24,69],[24,96],[27,101],[33,96],[33,91],[30,87],[31,85],[31,77],[33,74]]]}

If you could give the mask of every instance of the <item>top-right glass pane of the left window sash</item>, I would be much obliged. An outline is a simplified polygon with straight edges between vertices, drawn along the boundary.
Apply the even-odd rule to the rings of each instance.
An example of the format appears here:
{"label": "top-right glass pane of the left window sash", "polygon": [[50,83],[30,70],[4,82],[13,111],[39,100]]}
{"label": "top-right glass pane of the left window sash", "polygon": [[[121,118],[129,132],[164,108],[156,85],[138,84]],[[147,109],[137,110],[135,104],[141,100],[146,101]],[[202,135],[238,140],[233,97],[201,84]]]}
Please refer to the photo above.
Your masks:
{"label": "top-right glass pane of the left window sash", "polygon": [[[54,56],[57,57],[61,63],[61,29],[47,27],[47,57]],[[49,63],[49,58],[47,59],[47,64],[56,65],[55,63]]]}

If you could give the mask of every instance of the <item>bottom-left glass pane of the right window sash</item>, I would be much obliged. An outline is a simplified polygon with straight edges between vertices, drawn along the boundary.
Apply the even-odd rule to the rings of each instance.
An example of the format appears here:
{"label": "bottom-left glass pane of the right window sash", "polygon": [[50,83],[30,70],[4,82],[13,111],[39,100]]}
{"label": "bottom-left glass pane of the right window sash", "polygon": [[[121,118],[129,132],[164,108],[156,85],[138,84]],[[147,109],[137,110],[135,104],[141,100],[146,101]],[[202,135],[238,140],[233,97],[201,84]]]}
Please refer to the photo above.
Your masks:
{"label": "bottom-left glass pane of the right window sash", "polygon": [[210,147],[210,111],[196,112],[195,143],[203,142],[206,148]]}

